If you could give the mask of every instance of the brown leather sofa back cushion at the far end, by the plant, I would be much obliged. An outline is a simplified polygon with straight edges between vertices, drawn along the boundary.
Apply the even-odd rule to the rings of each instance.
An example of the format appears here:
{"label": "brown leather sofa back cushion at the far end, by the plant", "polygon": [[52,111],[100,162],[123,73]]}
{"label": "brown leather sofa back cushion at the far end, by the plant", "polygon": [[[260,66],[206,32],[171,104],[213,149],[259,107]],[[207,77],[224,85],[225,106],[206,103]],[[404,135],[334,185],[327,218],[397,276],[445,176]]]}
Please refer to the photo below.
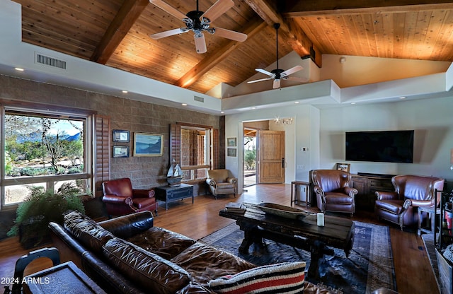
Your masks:
{"label": "brown leather sofa back cushion at the far end, by the plant", "polygon": [[71,211],[64,216],[64,228],[79,242],[96,253],[102,252],[105,242],[115,237],[79,211]]}

